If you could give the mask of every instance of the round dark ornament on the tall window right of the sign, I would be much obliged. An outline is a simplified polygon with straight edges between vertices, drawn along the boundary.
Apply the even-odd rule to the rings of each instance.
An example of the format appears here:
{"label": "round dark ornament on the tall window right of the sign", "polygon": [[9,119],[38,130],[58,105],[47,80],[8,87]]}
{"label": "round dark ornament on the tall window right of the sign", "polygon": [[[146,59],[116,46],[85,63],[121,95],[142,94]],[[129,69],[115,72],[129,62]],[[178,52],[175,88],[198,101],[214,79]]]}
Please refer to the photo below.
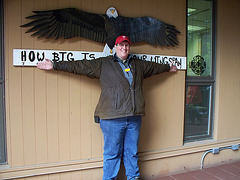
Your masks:
{"label": "round dark ornament on the tall window right of the sign", "polygon": [[202,56],[197,55],[189,62],[189,67],[195,74],[201,75],[206,70],[206,62]]}

